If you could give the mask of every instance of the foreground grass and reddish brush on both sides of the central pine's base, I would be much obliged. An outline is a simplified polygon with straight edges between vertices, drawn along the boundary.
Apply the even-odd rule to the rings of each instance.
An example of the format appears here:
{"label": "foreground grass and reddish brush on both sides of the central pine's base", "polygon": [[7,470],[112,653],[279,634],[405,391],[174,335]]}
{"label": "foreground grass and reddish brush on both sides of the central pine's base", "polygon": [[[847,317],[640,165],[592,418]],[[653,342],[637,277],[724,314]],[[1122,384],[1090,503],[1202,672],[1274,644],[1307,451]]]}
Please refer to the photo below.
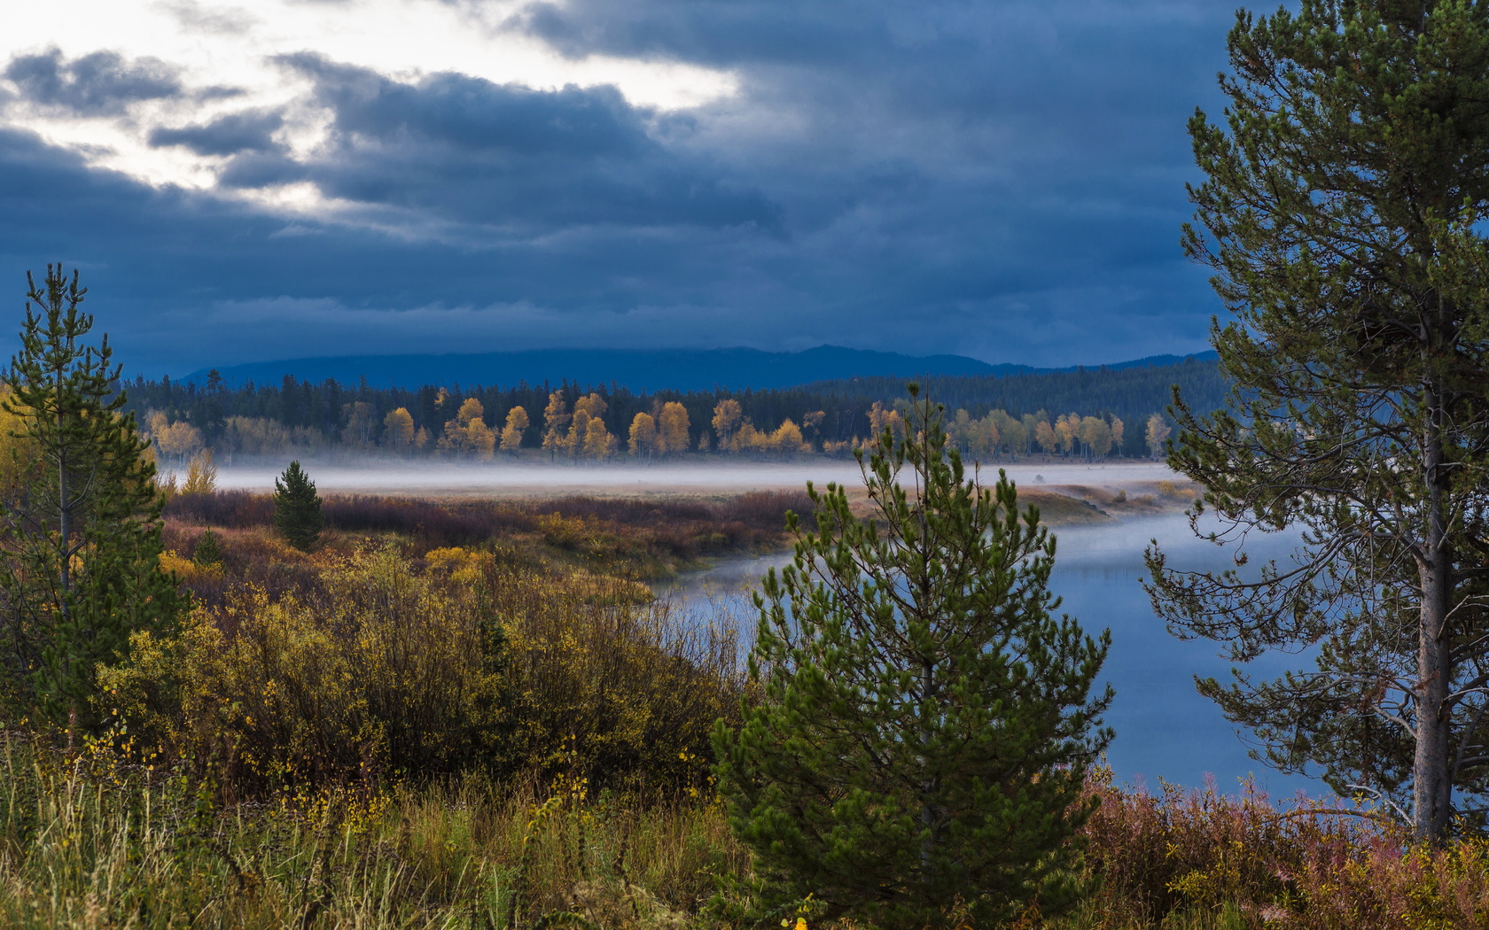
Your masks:
{"label": "foreground grass and reddish brush on both sides of the central pine's base", "polygon": [[[0,738],[7,927],[721,927],[749,856],[719,805],[558,778],[335,783],[223,805],[210,780],[128,763],[128,735]],[[1099,777],[1097,894],[1051,930],[1477,929],[1489,844],[1412,847],[1368,817]],[[573,921],[570,921],[573,923]],[[850,926],[850,924],[841,924]]]}

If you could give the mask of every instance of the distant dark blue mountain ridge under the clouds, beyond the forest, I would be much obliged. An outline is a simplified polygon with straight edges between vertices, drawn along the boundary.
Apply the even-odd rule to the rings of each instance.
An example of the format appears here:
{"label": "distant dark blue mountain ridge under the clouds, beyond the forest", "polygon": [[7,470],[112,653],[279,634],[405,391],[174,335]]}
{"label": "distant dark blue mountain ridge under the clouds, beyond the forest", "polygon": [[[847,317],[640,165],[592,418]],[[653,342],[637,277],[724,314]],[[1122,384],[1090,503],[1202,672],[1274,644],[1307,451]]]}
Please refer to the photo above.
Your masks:
{"label": "distant dark blue mountain ridge under the clouds, beyond the forest", "polygon": [[[1108,371],[1158,368],[1199,356],[1148,356],[1106,365]],[[1096,366],[1087,366],[1096,368]],[[210,369],[195,371],[182,381],[203,382]],[[733,390],[771,390],[822,381],[853,378],[917,376],[1008,376],[1047,372],[1074,372],[1078,368],[1032,368],[1027,365],[989,365],[966,356],[905,356],[841,345],[819,345],[798,353],[770,353],[756,348],[542,348],[515,353],[408,354],[408,356],[320,356],[253,362],[217,369],[229,384],[278,384],[286,375],[298,381],[335,379],[357,384],[366,378],[372,387],[418,388],[429,385],[502,385],[520,382],[539,385],[599,385],[616,382],[636,393],[660,390],[703,391],[713,387]]]}

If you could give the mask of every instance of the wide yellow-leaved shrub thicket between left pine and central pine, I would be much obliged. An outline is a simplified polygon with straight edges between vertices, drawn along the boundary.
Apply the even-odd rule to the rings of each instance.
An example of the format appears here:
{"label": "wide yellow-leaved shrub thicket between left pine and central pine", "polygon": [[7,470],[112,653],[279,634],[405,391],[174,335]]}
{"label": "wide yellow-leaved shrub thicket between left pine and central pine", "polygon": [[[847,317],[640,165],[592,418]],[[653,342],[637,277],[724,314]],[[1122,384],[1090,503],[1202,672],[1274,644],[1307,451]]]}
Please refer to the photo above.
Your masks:
{"label": "wide yellow-leaved shrub thicket between left pine and central pine", "polygon": [[739,711],[733,635],[643,585],[435,549],[329,559],[314,585],[229,589],[179,635],[140,635],[107,699],[225,789],[563,772],[698,790],[713,722]]}

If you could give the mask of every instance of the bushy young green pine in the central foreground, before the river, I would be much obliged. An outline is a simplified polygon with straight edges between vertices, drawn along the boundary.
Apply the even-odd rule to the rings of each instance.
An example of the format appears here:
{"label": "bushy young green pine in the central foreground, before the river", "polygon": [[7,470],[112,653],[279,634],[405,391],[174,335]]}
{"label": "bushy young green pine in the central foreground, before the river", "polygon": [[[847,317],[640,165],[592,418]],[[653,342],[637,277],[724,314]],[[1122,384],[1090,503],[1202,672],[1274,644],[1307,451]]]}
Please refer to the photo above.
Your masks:
{"label": "bushy young green pine in the central foreground, before the river", "polygon": [[1109,634],[1051,613],[1038,510],[968,476],[929,402],[908,412],[904,439],[858,452],[870,516],[807,485],[817,531],[791,515],[794,564],[756,597],[762,701],[715,732],[756,921],[810,899],[820,918],[981,927],[1084,890],[1072,835],[1111,738],[1111,690],[1091,695]]}

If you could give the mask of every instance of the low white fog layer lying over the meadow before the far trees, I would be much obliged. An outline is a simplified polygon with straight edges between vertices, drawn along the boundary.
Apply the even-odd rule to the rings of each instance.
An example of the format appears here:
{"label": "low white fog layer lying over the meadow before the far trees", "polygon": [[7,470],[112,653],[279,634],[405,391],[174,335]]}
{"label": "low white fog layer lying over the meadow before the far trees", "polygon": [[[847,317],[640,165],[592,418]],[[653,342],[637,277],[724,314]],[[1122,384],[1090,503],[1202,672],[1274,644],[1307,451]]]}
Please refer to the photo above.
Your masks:
{"label": "low white fog layer lying over the meadow before the far trees", "polygon": [[[280,464],[220,466],[219,488],[252,491],[272,490]],[[390,461],[369,458],[360,463],[304,463],[305,472],[323,494],[459,494],[459,496],[535,496],[535,494],[666,494],[731,493],[752,490],[801,488],[807,481],[829,481],[861,487],[862,475],[850,460],[813,458],[789,463],[697,461],[679,464],[622,463],[609,466],[485,463],[456,464],[430,461]],[[1004,466],[1020,485],[1100,485],[1120,488],[1154,481],[1173,481],[1175,473],[1158,463],[1083,464],[1057,461],[1018,461]],[[993,481],[996,469],[983,469]]]}

